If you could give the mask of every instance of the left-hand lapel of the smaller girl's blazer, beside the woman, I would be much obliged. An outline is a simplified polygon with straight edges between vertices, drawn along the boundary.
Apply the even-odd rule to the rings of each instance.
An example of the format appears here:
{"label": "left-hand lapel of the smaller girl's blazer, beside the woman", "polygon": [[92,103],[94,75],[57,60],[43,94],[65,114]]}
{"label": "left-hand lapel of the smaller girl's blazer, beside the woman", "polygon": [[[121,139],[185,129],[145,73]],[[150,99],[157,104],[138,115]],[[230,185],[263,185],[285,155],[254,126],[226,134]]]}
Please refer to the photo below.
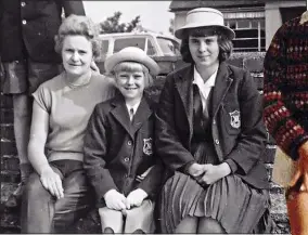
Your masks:
{"label": "left-hand lapel of the smaller girl's blazer, beside the woman", "polygon": [[111,114],[124,127],[127,133],[129,133],[130,136],[133,138],[130,131],[131,123],[130,123],[130,119],[129,119],[129,115],[127,112],[124,96],[117,93],[112,102],[112,105],[114,106],[114,109],[111,110]]}

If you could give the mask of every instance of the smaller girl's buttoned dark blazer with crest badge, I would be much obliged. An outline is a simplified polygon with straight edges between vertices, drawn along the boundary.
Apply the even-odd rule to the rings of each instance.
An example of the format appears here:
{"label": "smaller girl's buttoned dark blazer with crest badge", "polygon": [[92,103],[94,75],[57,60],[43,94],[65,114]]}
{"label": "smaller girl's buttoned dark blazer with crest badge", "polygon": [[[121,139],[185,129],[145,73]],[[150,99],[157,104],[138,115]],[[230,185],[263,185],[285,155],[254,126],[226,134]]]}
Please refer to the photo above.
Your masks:
{"label": "smaller girl's buttoned dark blazer with crest badge", "polygon": [[[154,151],[155,104],[143,95],[130,123],[125,100],[115,97],[98,104],[90,118],[85,136],[85,169],[102,204],[110,190],[129,194],[140,187],[150,198],[161,186],[162,162]],[[141,183],[137,175],[152,167]]]}

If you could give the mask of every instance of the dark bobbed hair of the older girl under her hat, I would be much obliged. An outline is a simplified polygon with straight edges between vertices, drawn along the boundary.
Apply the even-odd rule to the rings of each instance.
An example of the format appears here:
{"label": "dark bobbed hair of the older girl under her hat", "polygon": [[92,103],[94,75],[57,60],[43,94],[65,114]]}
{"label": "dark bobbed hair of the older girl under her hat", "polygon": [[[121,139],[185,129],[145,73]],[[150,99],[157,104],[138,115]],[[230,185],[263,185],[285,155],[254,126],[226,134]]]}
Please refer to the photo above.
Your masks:
{"label": "dark bobbed hair of the older girl under her hat", "polygon": [[187,63],[193,63],[193,58],[189,48],[189,37],[206,37],[216,35],[218,45],[219,45],[219,62],[228,60],[232,53],[233,44],[232,41],[223,34],[223,30],[220,27],[200,27],[200,28],[190,28],[185,30],[185,38],[181,42],[181,55],[182,60]]}

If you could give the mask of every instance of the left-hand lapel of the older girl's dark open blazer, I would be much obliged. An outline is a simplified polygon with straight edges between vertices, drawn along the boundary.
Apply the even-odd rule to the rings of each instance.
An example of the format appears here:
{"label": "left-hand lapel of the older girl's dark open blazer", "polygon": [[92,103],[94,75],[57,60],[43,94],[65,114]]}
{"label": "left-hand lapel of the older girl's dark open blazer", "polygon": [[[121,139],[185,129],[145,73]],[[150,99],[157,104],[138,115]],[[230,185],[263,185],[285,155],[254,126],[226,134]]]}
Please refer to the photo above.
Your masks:
{"label": "left-hand lapel of the older girl's dark open blazer", "polygon": [[193,134],[193,65],[187,67],[187,69],[175,77],[176,88],[182,101],[182,105],[185,109],[187,119],[190,128],[190,140]]}

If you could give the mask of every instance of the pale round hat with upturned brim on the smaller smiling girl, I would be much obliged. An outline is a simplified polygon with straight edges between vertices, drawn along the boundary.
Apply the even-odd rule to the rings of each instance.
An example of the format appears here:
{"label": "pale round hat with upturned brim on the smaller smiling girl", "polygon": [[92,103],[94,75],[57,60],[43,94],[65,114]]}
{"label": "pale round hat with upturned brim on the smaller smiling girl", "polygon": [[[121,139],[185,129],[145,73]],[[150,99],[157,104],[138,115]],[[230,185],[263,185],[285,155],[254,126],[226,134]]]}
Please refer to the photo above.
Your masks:
{"label": "pale round hat with upturned brim on the smaller smiling girl", "polygon": [[147,56],[143,50],[136,47],[124,48],[119,52],[108,56],[105,61],[106,73],[111,73],[114,67],[121,62],[137,62],[143,64],[149,68],[150,74],[153,76],[156,76],[159,73],[159,66],[157,63]]}

